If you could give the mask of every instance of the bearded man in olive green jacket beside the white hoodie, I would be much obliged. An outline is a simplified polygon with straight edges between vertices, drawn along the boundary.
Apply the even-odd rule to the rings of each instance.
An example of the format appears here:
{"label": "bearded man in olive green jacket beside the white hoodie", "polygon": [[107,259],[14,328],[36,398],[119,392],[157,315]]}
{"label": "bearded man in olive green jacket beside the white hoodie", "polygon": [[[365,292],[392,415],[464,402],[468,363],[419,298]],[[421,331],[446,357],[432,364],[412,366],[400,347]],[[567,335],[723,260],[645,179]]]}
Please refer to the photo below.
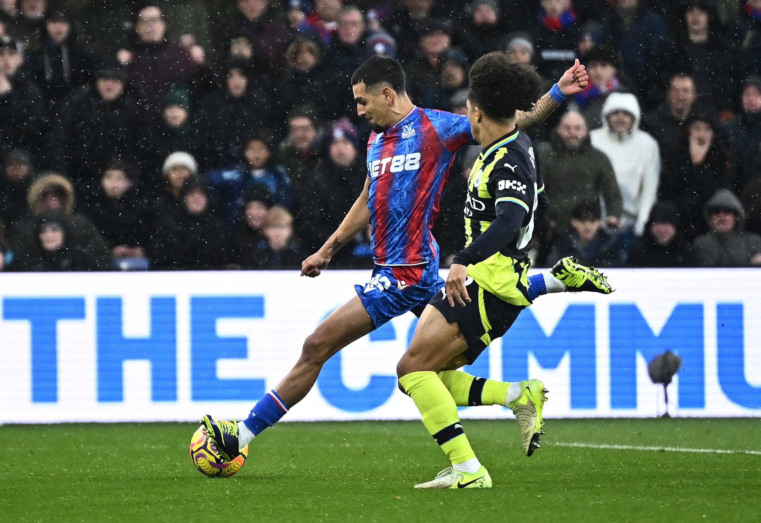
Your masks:
{"label": "bearded man in olive green jacket beside the white hoodie", "polygon": [[621,192],[607,155],[592,145],[584,117],[568,111],[552,132],[552,142],[537,145],[542,176],[549,198],[552,228],[566,228],[579,203],[605,202],[607,225],[617,228]]}

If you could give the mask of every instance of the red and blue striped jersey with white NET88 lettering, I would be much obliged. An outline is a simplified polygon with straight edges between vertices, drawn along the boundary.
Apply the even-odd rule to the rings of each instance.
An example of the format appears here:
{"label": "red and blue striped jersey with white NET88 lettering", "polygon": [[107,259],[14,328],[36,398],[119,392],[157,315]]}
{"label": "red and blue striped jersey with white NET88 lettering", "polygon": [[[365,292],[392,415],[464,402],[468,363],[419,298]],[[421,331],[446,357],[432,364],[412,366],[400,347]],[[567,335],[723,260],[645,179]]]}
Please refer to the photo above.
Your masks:
{"label": "red and blue striped jersey with white NET88 lettering", "polygon": [[371,134],[368,208],[375,263],[438,263],[431,226],[454,153],[471,139],[466,116],[419,107]]}

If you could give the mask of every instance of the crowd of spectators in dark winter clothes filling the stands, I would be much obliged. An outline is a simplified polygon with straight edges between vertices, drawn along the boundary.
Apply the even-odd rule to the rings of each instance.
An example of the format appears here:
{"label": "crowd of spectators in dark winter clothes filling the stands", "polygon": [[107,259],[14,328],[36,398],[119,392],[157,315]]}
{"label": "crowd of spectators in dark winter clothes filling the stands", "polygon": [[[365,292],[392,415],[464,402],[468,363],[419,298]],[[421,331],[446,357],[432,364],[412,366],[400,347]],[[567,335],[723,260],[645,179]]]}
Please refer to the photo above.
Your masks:
{"label": "crowd of spectators in dark winter clothes filling the stands", "polygon": [[464,114],[495,50],[590,77],[530,130],[536,266],[761,265],[761,0],[0,0],[0,269],[299,268],[365,181],[358,65],[394,56],[415,104]]}

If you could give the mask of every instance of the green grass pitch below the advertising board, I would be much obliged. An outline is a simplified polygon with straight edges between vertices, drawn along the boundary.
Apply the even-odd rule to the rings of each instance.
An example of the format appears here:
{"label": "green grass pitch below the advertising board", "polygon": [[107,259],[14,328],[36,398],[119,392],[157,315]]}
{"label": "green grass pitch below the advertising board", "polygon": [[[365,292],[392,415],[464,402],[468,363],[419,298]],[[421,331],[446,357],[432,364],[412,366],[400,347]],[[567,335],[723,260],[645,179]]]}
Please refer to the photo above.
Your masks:
{"label": "green grass pitch below the advertising board", "polygon": [[0,521],[761,521],[761,419],[550,419],[521,454],[514,420],[466,420],[491,490],[417,491],[447,466],[419,422],[280,423],[244,468],[206,478],[188,423],[0,426]]}

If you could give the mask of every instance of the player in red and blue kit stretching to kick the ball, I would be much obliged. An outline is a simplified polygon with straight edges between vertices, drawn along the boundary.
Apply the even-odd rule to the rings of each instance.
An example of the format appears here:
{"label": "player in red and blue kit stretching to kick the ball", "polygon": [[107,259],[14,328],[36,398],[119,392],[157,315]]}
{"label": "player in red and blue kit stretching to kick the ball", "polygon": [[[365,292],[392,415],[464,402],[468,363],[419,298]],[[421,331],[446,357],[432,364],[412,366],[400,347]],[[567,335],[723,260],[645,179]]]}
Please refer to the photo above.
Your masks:
{"label": "player in red and blue kit stretching to kick the ball", "polygon": [[[584,66],[577,61],[552,91],[517,113],[516,123],[524,128],[541,123],[565,95],[580,92],[586,84]],[[508,99],[510,88],[500,88]],[[247,419],[231,423],[203,416],[202,423],[224,458],[237,456],[256,435],[301,401],[323,364],[336,352],[393,317],[407,311],[421,314],[444,285],[431,226],[455,152],[473,139],[470,123],[466,116],[412,104],[403,69],[389,57],[373,56],[361,65],[352,75],[352,91],[359,116],[373,129],[365,188],[336,232],[304,260],[301,275],[319,276],[331,257],[368,223],[375,268],[366,285],[355,285],[357,295],[307,337],[291,372],[256,403]],[[575,290],[557,279],[548,280],[550,287],[555,285],[548,289],[543,275],[537,278],[532,286],[537,295]]]}

